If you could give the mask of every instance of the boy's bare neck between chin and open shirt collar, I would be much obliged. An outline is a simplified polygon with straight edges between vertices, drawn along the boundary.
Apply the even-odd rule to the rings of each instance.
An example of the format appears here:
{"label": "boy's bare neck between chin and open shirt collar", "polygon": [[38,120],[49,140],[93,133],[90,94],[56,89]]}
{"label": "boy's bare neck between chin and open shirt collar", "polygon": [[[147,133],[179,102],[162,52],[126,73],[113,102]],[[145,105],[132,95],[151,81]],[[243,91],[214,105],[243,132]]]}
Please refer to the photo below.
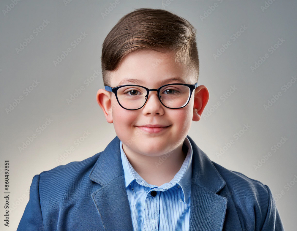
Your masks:
{"label": "boy's bare neck between chin and open shirt collar", "polygon": [[170,155],[162,155],[166,157],[166,159],[163,158],[165,159],[163,162],[160,162],[160,157],[162,159],[162,156],[145,156],[133,152],[124,143],[122,147],[135,171],[146,182],[157,186],[170,182],[180,170],[187,156],[185,150],[182,150],[183,144],[178,146],[173,152],[170,152]]}

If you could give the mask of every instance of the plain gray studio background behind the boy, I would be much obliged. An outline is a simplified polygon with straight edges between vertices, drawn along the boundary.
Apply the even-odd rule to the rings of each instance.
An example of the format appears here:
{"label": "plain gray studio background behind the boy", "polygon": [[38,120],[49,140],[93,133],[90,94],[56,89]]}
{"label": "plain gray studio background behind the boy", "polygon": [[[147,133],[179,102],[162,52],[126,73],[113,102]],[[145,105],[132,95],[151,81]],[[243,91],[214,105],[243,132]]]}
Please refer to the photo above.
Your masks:
{"label": "plain gray studio background behind the boy", "polygon": [[[101,72],[102,43],[116,22],[137,8],[160,8],[189,20],[197,29],[200,58],[198,85],[205,85],[210,92],[208,105],[202,117],[192,123],[189,136],[214,162],[268,185],[277,198],[277,208],[286,230],[296,230],[297,183],[293,181],[296,170],[296,115],[297,83],[286,92],[282,90],[292,76],[296,76],[296,9],[297,1],[272,1],[267,9],[264,0],[254,1],[119,1],[106,17],[101,13],[115,1],[78,1],[69,4],[62,1],[20,1],[9,12],[7,4],[0,2],[1,31],[1,139],[0,179],[4,192],[4,160],[9,160],[10,227],[0,230],[16,230],[29,200],[29,187],[35,174],[50,170],[60,164],[80,161],[103,151],[116,136],[113,124],[108,124],[97,104],[96,93],[103,88],[102,76],[89,86],[84,81],[94,71]],[[169,4],[168,4],[169,3]],[[217,7],[213,11],[215,3]],[[211,13],[201,19],[204,11]],[[38,35],[34,29],[48,20]],[[44,24],[45,25],[45,24]],[[241,28],[247,29],[236,39],[231,36]],[[81,32],[88,34],[76,48],[70,44]],[[25,38],[34,39],[17,52]],[[273,54],[268,49],[279,38],[285,41]],[[222,44],[231,45],[214,58]],[[230,43],[229,43],[230,44]],[[59,63],[53,61],[67,48],[72,51]],[[251,66],[268,53],[269,58],[254,72]],[[33,81],[40,83],[25,95]],[[85,90],[71,103],[66,99],[81,86]],[[235,92],[229,94],[230,86]],[[31,87],[32,88],[32,87]],[[284,88],[283,88],[284,89]],[[278,92],[282,96],[267,110],[264,104]],[[224,100],[223,94],[229,97]],[[6,108],[23,96],[23,100],[11,112]],[[220,106],[214,109],[220,101]],[[212,109],[213,108],[213,109]],[[47,119],[52,122],[38,134],[36,129]],[[233,134],[240,132],[244,124],[250,128],[236,140]],[[44,126],[45,127],[45,126]],[[89,136],[76,147],[73,142],[84,131]],[[37,137],[20,151],[19,146],[33,134]],[[271,147],[286,137],[288,140],[273,152]],[[222,156],[220,148],[231,139],[234,143]],[[65,149],[75,146],[65,159]],[[263,159],[261,167],[255,169]],[[57,160],[63,160],[57,162]],[[259,164],[260,165],[260,164]],[[296,180],[297,178],[295,178]],[[287,183],[293,185],[286,190]],[[3,191],[3,192],[2,192]],[[25,199],[22,199],[25,197]],[[4,198],[1,196],[4,204]],[[4,217],[4,208],[0,215]]]}

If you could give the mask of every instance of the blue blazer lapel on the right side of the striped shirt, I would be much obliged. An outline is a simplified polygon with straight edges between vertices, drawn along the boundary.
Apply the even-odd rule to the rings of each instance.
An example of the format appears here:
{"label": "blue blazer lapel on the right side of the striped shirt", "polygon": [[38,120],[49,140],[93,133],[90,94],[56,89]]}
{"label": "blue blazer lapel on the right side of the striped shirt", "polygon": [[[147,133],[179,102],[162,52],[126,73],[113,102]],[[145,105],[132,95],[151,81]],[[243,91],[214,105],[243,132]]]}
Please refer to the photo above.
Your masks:
{"label": "blue blazer lapel on the right side of the striped shirt", "polygon": [[193,149],[189,231],[223,228],[227,198],[217,194],[226,184],[208,156],[187,136]]}

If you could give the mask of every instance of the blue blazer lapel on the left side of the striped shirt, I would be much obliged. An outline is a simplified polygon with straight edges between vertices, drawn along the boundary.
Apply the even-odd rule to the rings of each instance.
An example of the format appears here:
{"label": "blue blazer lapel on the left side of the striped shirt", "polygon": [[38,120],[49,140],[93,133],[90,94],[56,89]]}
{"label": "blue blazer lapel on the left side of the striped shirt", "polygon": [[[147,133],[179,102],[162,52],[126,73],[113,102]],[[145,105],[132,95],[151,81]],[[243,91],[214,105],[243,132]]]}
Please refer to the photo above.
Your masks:
{"label": "blue blazer lapel on the left side of the striped shirt", "polygon": [[99,155],[89,177],[101,187],[91,194],[105,230],[133,230],[116,136]]}

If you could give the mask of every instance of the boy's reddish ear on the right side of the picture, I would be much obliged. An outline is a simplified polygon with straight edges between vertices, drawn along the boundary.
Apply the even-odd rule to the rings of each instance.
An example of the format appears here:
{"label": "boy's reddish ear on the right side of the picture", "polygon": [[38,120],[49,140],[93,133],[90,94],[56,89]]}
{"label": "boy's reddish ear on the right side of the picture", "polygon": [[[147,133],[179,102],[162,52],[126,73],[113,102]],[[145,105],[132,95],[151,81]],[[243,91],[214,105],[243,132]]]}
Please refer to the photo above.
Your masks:
{"label": "boy's reddish ear on the right side of the picture", "polygon": [[193,121],[199,121],[201,119],[202,112],[208,102],[208,99],[209,92],[206,86],[198,86],[194,92]]}

